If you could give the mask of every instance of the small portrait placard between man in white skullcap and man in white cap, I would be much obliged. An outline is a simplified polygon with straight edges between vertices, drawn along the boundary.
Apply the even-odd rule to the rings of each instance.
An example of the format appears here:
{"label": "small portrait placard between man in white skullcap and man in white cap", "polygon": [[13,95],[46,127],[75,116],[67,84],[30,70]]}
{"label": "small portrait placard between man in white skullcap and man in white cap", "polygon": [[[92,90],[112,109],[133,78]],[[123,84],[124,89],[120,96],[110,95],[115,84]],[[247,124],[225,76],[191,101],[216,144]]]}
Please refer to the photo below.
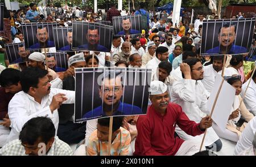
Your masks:
{"label": "small portrait placard between man in white skullcap and man in white cap", "polygon": [[47,53],[47,65],[55,72],[64,72],[68,69],[67,52]]}

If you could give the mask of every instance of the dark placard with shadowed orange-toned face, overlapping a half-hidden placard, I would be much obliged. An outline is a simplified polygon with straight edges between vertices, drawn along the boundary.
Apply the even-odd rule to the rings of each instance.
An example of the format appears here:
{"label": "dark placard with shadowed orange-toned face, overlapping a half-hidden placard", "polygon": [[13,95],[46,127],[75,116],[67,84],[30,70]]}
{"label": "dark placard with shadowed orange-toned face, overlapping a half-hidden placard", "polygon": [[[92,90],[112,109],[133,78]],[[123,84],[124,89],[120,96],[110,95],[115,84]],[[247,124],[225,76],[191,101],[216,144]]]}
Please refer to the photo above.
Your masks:
{"label": "dark placard with shadowed orange-toned face, overlapping a half-hidden placard", "polygon": [[113,27],[98,23],[72,23],[72,50],[110,52]]}

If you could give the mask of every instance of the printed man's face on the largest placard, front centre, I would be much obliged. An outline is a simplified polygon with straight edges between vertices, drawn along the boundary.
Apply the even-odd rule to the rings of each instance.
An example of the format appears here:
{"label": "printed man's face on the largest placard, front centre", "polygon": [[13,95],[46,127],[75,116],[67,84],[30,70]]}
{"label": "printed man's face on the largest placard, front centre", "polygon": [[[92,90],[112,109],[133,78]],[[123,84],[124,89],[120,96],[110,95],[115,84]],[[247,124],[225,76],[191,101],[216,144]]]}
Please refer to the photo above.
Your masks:
{"label": "printed man's face on the largest placard, front centre", "polygon": [[102,81],[99,93],[105,105],[112,106],[117,104],[123,95],[121,77],[117,76],[115,79],[105,78],[105,80]]}

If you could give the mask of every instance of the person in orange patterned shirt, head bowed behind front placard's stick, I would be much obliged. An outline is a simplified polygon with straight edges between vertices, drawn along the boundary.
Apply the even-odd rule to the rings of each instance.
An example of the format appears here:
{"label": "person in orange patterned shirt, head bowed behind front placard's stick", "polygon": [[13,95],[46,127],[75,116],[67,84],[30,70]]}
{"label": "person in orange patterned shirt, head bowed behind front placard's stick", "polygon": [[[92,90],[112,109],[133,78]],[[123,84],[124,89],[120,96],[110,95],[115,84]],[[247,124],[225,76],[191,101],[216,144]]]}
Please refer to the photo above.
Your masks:
{"label": "person in orange patterned shirt, head bowed behind front placard's stick", "polygon": [[[97,122],[97,130],[94,130],[86,145],[86,155],[108,156],[110,118],[101,118]],[[130,132],[121,127],[123,117],[113,117],[111,151],[112,156],[126,156],[129,153],[131,142]]]}

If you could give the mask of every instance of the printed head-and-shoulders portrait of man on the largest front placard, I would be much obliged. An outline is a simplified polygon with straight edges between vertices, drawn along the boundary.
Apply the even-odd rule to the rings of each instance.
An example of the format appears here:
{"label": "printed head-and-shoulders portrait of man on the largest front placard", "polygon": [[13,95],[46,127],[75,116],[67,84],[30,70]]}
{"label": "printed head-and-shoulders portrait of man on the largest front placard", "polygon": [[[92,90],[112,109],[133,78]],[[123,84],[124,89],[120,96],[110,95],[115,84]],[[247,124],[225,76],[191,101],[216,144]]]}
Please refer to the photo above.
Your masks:
{"label": "printed head-and-shoulders portrait of man on the largest front placard", "polygon": [[122,102],[123,84],[120,73],[106,72],[98,84],[100,84],[98,93],[102,100],[102,105],[85,113],[82,118],[142,114],[142,110],[138,106]]}

